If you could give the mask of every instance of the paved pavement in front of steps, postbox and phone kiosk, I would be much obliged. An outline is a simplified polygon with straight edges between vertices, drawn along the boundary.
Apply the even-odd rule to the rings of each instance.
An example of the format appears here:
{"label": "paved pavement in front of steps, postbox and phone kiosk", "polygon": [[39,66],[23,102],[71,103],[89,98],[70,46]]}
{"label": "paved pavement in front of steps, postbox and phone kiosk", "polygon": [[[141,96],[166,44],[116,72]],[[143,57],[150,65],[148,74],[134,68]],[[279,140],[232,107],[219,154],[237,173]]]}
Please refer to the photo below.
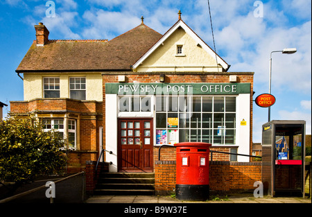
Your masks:
{"label": "paved pavement in front of steps, postbox and phone kiosk", "polygon": [[85,203],[311,203],[311,199],[300,197],[254,198],[252,194],[213,196],[207,201],[186,201],[171,196],[92,196]]}

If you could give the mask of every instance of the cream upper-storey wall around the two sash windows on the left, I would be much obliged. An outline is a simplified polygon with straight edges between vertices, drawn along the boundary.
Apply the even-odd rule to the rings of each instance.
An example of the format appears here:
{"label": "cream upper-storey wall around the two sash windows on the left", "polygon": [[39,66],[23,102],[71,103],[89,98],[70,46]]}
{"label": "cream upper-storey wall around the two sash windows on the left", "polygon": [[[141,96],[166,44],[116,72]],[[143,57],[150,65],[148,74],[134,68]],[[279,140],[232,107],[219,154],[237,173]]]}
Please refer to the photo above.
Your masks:
{"label": "cream upper-storey wall around the two sash windows on the left", "polygon": [[43,98],[43,78],[60,77],[60,98],[69,98],[69,78],[86,78],[86,100],[103,101],[103,87],[101,73],[25,73],[24,101]]}

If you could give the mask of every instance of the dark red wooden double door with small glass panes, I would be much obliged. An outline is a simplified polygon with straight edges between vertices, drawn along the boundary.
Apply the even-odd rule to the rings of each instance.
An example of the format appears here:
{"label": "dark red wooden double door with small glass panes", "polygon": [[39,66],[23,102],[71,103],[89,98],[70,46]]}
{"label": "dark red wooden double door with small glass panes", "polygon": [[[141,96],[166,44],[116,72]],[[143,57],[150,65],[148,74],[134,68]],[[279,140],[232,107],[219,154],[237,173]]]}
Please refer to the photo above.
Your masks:
{"label": "dark red wooden double door with small glass panes", "polygon": [[119,119],[119,171],[153,172],[153,119]]}

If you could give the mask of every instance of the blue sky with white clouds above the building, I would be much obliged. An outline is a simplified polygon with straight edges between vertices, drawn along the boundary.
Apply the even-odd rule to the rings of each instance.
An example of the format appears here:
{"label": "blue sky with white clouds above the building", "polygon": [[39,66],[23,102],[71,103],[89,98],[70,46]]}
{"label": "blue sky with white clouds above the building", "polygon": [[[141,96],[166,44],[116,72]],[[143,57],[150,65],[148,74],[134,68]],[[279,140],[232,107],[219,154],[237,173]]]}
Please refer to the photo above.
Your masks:
{"label": "blue sky with white clouds above the building", "polygon": [[[46,16],[43,0],[0,0],[0,101],[22,101],[23,83],[15,73],[42,21],[50,39],[107,39],[144,23],[166,33],[182,19],[211,48],[207,0],[54,0],[55,17]],[[268,92],[271,51],[297,48],[292,55],[272,54],[271,119],[306,121],[311,134],[311,1],[210,0],[216,52],[229,71],[254,72],[254,98]],[[6,116],[4,109],[3,115]],[[268,109],[253,103],[253,140],[261,142]]]}

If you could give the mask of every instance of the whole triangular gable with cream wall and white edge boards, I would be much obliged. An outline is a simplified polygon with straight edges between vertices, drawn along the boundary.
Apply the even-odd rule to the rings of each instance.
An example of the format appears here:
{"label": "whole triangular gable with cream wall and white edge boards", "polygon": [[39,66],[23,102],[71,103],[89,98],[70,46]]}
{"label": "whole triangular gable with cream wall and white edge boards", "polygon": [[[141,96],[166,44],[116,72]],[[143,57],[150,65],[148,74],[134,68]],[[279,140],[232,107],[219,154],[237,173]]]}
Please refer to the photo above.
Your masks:
{"label": "whole triangular gable with cream wall and white edge boards", "polygon": [[132,66],[134,71],[182,68],[184,71],[227,71],[229,65],[181,19]]}

